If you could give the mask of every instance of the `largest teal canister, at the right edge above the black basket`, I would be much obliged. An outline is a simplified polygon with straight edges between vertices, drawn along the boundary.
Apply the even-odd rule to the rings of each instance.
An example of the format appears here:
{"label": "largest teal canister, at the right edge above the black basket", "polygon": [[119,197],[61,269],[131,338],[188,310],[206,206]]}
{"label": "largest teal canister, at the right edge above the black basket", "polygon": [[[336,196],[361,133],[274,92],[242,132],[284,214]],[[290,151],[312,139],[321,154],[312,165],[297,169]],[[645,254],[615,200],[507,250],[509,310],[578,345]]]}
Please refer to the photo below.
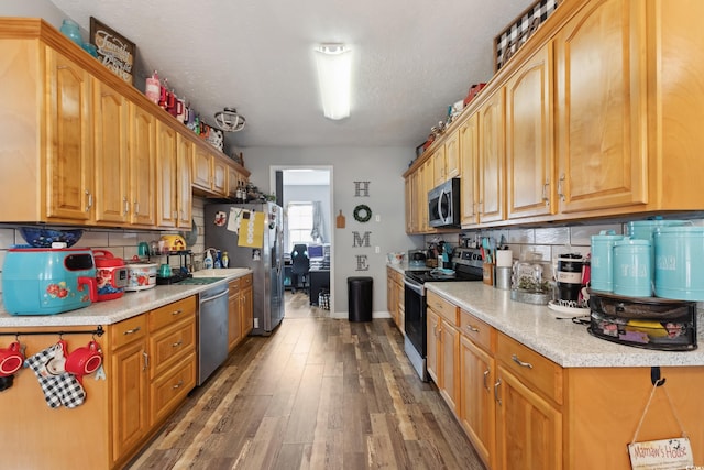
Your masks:
{"label": "largest teal canister, at the right edge above the black basket", "polygon": [[704,227],[664,227],[654,240],[656,296],[704,300]]}

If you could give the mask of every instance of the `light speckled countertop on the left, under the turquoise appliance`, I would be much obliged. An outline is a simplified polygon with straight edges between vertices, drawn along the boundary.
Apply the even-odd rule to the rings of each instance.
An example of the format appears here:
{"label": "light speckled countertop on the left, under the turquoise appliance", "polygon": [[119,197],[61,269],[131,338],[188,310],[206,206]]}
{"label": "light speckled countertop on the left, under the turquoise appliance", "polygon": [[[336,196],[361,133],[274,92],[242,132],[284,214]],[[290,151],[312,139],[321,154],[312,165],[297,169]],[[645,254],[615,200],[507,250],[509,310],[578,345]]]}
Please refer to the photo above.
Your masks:
{"label": "light speckled countertop on the left, under the turquoise appliance", "polygon": [[250,269],[231,269],[222,273],[220,281],[205,285],[157,285],[154,288],[125,292],[120,298],[106,302],[97,302],[86,308],[65,311],[57,315],[10,315],[0,311],[0,328],[18,327],[66,327],[87,325],[112,325],[118,321],[141,315],[154,308],[162,307],[182,298],[196,295],[211,287],[227,284],[228,282],[251,273]]}

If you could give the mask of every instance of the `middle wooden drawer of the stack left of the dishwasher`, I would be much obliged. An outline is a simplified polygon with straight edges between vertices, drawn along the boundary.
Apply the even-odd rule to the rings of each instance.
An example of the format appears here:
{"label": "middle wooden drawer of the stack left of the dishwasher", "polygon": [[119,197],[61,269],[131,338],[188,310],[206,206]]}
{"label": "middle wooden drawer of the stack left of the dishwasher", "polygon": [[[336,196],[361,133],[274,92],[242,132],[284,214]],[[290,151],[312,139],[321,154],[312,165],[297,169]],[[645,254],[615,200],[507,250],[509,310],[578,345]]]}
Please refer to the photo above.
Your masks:
{"label": "middle wooden drawer of the stack left of the dishwasher", "polygon": [[163,373],[183,357],[196,350],[196,321],[194,318],[163,328],[150,336],[152,360],[151,378]]}

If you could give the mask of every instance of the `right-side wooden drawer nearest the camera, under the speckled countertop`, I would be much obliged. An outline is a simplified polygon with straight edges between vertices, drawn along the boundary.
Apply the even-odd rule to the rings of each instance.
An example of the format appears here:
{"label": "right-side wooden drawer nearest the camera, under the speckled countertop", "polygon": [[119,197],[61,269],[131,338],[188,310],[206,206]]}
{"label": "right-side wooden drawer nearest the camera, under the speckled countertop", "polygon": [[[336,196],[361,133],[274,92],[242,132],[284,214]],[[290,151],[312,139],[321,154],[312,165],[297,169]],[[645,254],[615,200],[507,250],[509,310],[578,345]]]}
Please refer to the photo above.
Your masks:
{"label": "right-side wooden drawer nearest the camera, under the speckled countertop", "polygon": [[562,404],[562,368],[518,341],[498,334],[496,359],[526,385]]}

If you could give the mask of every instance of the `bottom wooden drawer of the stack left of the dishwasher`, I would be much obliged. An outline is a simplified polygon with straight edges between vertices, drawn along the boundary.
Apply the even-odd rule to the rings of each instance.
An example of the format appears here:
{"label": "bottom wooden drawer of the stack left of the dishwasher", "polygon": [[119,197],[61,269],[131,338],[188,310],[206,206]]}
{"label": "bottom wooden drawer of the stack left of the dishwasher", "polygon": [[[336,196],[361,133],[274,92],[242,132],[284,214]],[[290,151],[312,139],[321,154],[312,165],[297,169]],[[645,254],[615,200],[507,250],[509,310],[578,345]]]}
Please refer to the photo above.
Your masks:
{"label": "bottom wooden drawer of the stack left of the dishwasher", "polygon": [[166,419],[194,386],[196,386],[195,352],[152,383],[150,425],[154,426]]}

